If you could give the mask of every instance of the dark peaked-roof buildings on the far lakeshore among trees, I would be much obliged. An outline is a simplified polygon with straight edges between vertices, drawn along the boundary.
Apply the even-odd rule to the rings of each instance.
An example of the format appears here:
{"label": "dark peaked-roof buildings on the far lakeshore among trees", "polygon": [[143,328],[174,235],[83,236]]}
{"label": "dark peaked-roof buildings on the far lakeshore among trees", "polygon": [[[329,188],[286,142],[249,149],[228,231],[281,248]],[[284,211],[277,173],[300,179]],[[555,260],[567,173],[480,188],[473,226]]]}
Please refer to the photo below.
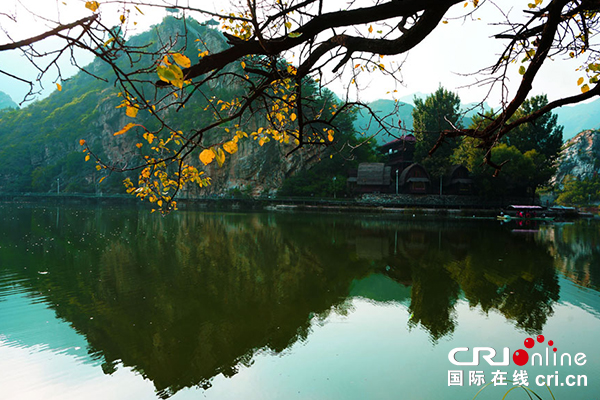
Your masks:
{"label": "dark peaked-roof buildings on the far lakeshore among trees", "polygon": [[404,135],[381,146],[384,163],[361,163],[350,171],[348,185],[356,193],[472,194],[473,180],[463,165],[453,165],[434,184],[425,167],[414,162],[416,138]]}

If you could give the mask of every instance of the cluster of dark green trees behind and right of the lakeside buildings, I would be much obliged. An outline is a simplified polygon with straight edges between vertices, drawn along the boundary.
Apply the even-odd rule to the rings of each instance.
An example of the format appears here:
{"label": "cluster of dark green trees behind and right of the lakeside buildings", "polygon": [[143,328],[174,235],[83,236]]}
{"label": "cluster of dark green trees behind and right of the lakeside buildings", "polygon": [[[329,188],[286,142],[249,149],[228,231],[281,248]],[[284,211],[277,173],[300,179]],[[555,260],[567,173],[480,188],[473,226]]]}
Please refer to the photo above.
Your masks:
{"label": "cluster of dark green trees behind and right of the lakeside buildings", "polygon": [[[562,126],[556,115],[547,113],[533,122],[523,124],[492,150],[492,161],[498,165],[506,162],[497,176],[494,169],[483,164],[484,151],[472,138],[444,143],[433,156],[427,151],[433,147],[440,130],[459,128],[462,124],[460,98],[457,94],[439,88],[425,100],[416,99],[413,110],[417,146],[415,160],[422,163],[434,177],[453,164],[463,164],[475,180],[477,194],[486,197],[533,196],[535,190],[545,186],[556,172],[562,145]],[[520,118],[548,104],[545,95],[526,100],[514,118]],[[470,127],[481,128],[491,121],[494,111],[474,115]],[[510,121],[509,121],[510,122]]]}

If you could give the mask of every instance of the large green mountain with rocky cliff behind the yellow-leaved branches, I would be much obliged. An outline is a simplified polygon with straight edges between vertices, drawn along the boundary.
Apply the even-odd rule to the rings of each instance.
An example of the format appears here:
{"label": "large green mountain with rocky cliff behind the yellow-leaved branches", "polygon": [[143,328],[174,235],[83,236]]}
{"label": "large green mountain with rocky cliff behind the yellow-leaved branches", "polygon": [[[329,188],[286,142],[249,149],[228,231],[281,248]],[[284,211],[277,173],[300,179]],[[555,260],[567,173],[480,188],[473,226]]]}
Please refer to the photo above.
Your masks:
{"label": "large green mountain with rocky cliff behind the yellow-leaved branches", "polygon": [[[181,37],[184,30],[188,32],[189,43],[198,43],[198,46],[204,46],[201,44],[204,43],[213,52],[228,46],[225,37],[211,26],[191,19],[184,24],[172,16],[166,17],[150,31],[131,38],[129,43],[140,48],[150,43],[150,47],[145,49],[152,51],[158,43],[162,43],[160,38]],[[204,47],[195,48],[189,43],[186,55],[191,59],[197,58],[198,51],[203,51]],[[126,57],[121,57],[118,63],[123,69],[131,68]],[[105,171],[96,171],[92,161],[84,161],[79,141],[84,139],[86,145],[108,165],[136,165],[145,150],[145,147],[139,151],[136,149],[144,130],[133,128],[127,134],[116,137],[114,133],[130,122],[141,124],[148,130],[156,129],[158,123],[147,112],[140,111],[133,120],[125,115],[122,108],[116,108],[122,98],[117,96],[113,72],[108,65],[96,59],[86,68],[108,83],[80,72],[63,82],[62,91],[22,109],[0,111],[0,191],[56,192],[57,184],[60,184],[60,192],[124,193],[124,178],[137,182],[139,171],[108,176]],[[241,69],[239,65],[231,68]],[[184,109],[169,111],[161,117],[171,126],[189,132],[198,125],[213,121],[203,112],[211,97],[233,99],[243,90],[224,81],[214,81],[210,84],[210,91],[205,93],[207,97],[191,96]],[[251,132],[264,125],[259,118],[255,115],[245,121],[245,129]],[[231,128],[234,129],[233,126]],[[221,141],[216,135],[220,133],[207,133],[203,139],[208,143]],[[271,194],[287,176],[318,159],[322,151],[317,149],[319,146],[314,146],[286,157],[292,146],[275,142],[259,146],[257,141],[240,140],[238,152],[228,155],[222,168],[213,165],[216,163],[208,168],[198,165],[198,154],[194,153],[192,163],[207,172],[212,185],[202,188],[201,192],[196,187],[187,194],[224,194],[236,189],[244,189],[251,194]],[[100,183],[103,177],[106,179]]]}

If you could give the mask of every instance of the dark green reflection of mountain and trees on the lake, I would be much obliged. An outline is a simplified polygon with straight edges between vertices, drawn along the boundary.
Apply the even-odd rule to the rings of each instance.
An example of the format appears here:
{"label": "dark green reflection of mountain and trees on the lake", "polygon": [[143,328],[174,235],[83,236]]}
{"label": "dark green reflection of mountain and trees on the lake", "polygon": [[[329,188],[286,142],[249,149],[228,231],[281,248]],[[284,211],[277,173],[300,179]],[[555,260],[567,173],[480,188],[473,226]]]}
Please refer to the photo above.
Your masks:
{"label": "dark green reflection of mountain and trees on the lake", "polygon": [[[576,246],[569,227],[523,236],[481,221],[58,212],[0,208],[0,301],[18,285],[86,338],[104,373],[131,367],[163,398],[283,352],[352,296],[406,304],[433,343],[455,330],[462,298],[541,332],[555,264]],[[561,268],[593,286],[598,271],[579,265]]]}

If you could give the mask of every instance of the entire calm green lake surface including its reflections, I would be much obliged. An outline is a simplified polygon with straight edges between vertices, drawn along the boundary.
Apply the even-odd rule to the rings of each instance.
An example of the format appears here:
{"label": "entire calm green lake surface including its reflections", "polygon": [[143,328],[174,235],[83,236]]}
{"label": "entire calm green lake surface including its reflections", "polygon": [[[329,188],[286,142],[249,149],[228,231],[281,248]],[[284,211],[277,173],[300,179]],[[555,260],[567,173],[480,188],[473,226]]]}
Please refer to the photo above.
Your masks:
{"label": "entire calm green lake surface including its reflections", "polygon": [[[593,222],[2,206],[0,223],[0,399],[472,399],[469,371],[515,370],[543,399],[538,375],[600,398]],[[540,334],[548,366],[448,359]]]}

